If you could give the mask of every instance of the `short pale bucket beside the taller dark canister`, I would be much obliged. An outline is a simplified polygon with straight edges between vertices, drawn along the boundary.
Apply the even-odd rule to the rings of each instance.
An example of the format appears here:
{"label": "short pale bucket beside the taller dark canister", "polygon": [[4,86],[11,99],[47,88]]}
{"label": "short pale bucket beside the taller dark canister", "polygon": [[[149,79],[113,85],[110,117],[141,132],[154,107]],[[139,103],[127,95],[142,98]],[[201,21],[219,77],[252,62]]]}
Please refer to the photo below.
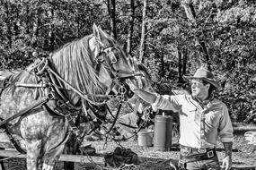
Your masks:
{"label": "short pale bucket beside the taller dark canister", "polygon": [[140,130],[137,133],[137,142],[139,146],[151,147],[153,145],[153,131],[149,129]]}

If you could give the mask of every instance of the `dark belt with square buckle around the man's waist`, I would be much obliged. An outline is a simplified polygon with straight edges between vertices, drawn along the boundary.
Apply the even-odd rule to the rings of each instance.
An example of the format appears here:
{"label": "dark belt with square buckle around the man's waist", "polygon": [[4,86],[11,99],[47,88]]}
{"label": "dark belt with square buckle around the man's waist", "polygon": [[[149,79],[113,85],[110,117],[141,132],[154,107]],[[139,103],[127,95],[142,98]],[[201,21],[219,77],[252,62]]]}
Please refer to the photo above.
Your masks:
{"label": "dark belt with square buckle around the man's waist", "polygon": [[[183,150],[187,149],[188,152],[184,152]],[[216,157],[216,149],[194,149],[190,147],[181,146],[181,156],[180,159],[185,162],[193,162],[199,160],[207,160],[212,157]]]}

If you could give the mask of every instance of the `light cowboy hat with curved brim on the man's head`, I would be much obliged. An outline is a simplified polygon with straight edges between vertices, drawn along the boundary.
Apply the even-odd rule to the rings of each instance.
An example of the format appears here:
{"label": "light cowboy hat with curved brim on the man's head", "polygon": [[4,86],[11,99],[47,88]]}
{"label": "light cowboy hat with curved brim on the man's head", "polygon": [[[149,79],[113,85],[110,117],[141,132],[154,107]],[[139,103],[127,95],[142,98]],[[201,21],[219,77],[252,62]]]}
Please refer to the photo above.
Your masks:
{"label": "light cowboy hat with curved brim on the man's head", "polygon": [[184,78],[188,80],[201,79],[212,84],[216,89],[220,89],[220,85],[218,81],[215,80],[214,74],[203,67],[200,67],[193,76],[184,76]]}

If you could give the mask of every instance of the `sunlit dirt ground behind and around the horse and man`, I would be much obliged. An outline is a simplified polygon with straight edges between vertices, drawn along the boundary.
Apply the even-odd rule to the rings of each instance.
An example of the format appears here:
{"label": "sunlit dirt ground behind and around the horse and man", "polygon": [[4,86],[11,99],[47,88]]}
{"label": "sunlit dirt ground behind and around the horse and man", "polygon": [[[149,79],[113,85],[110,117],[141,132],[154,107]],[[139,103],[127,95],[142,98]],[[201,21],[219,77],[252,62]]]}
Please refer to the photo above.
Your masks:
{"label": "sunlit dirt ground behind and around the horse and man", "polygon": [[[107,142],[104,141],[93,141],[92,146],[96,149],[96,153],[104,155],[106,153],[112,152],[116,147],[123,146],[127,149],[131,149],[136,152],[138,157],[140,157],[141,164],[137,166],[126,166],[123,169],[139,169],[139,170],[171,170],[172,167],[169,165],[170,159],[177,161],[179,158],[179,148],[177,147],[177,139],[172,140],[171,151],[157,151],[154,147],[141,147],[138,146],[137,140],[125,141],[125,142]],[[253,151],[254,147],[248,145],[242,135],[235,136],[234,147],[233,147],[233,167],[239,169],[247,169],[246,167],[251,167],[249,169],[256,169],[256,152]],[[224,149],[221,143],[216,147],[217,155],[221,160],[224,155]],[[89,157],[90,158],[90,157]],[[25,159],[22,158],[11,158],[4,160],[4,166],[6,170],[25,170]],[[255,166],[255,167],[254,167]],[[55,170],[62,170],[63,163],[58,162]],[[93,170],[93,169],[103,169],[102,165],[75,163],[75,170]],[[111,167],[104,169],[114,169]],[[117,169],[117,168],[116,168]],[[120,169],[120,168],[119,168]]]}

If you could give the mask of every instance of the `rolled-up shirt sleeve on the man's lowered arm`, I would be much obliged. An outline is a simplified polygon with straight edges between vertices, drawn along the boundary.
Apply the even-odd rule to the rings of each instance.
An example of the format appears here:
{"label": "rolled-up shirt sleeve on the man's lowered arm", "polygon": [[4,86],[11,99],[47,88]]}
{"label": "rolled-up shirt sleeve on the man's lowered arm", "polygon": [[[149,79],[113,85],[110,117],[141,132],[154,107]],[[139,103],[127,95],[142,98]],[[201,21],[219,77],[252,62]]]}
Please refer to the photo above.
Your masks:
{"label": "rolled-up shirt sleeve on the man's lowered arm", "polygon": [[225,104],[223,105],[223,115],[219,123],[219,137],[222,142],[234,141],[234,130]]}

